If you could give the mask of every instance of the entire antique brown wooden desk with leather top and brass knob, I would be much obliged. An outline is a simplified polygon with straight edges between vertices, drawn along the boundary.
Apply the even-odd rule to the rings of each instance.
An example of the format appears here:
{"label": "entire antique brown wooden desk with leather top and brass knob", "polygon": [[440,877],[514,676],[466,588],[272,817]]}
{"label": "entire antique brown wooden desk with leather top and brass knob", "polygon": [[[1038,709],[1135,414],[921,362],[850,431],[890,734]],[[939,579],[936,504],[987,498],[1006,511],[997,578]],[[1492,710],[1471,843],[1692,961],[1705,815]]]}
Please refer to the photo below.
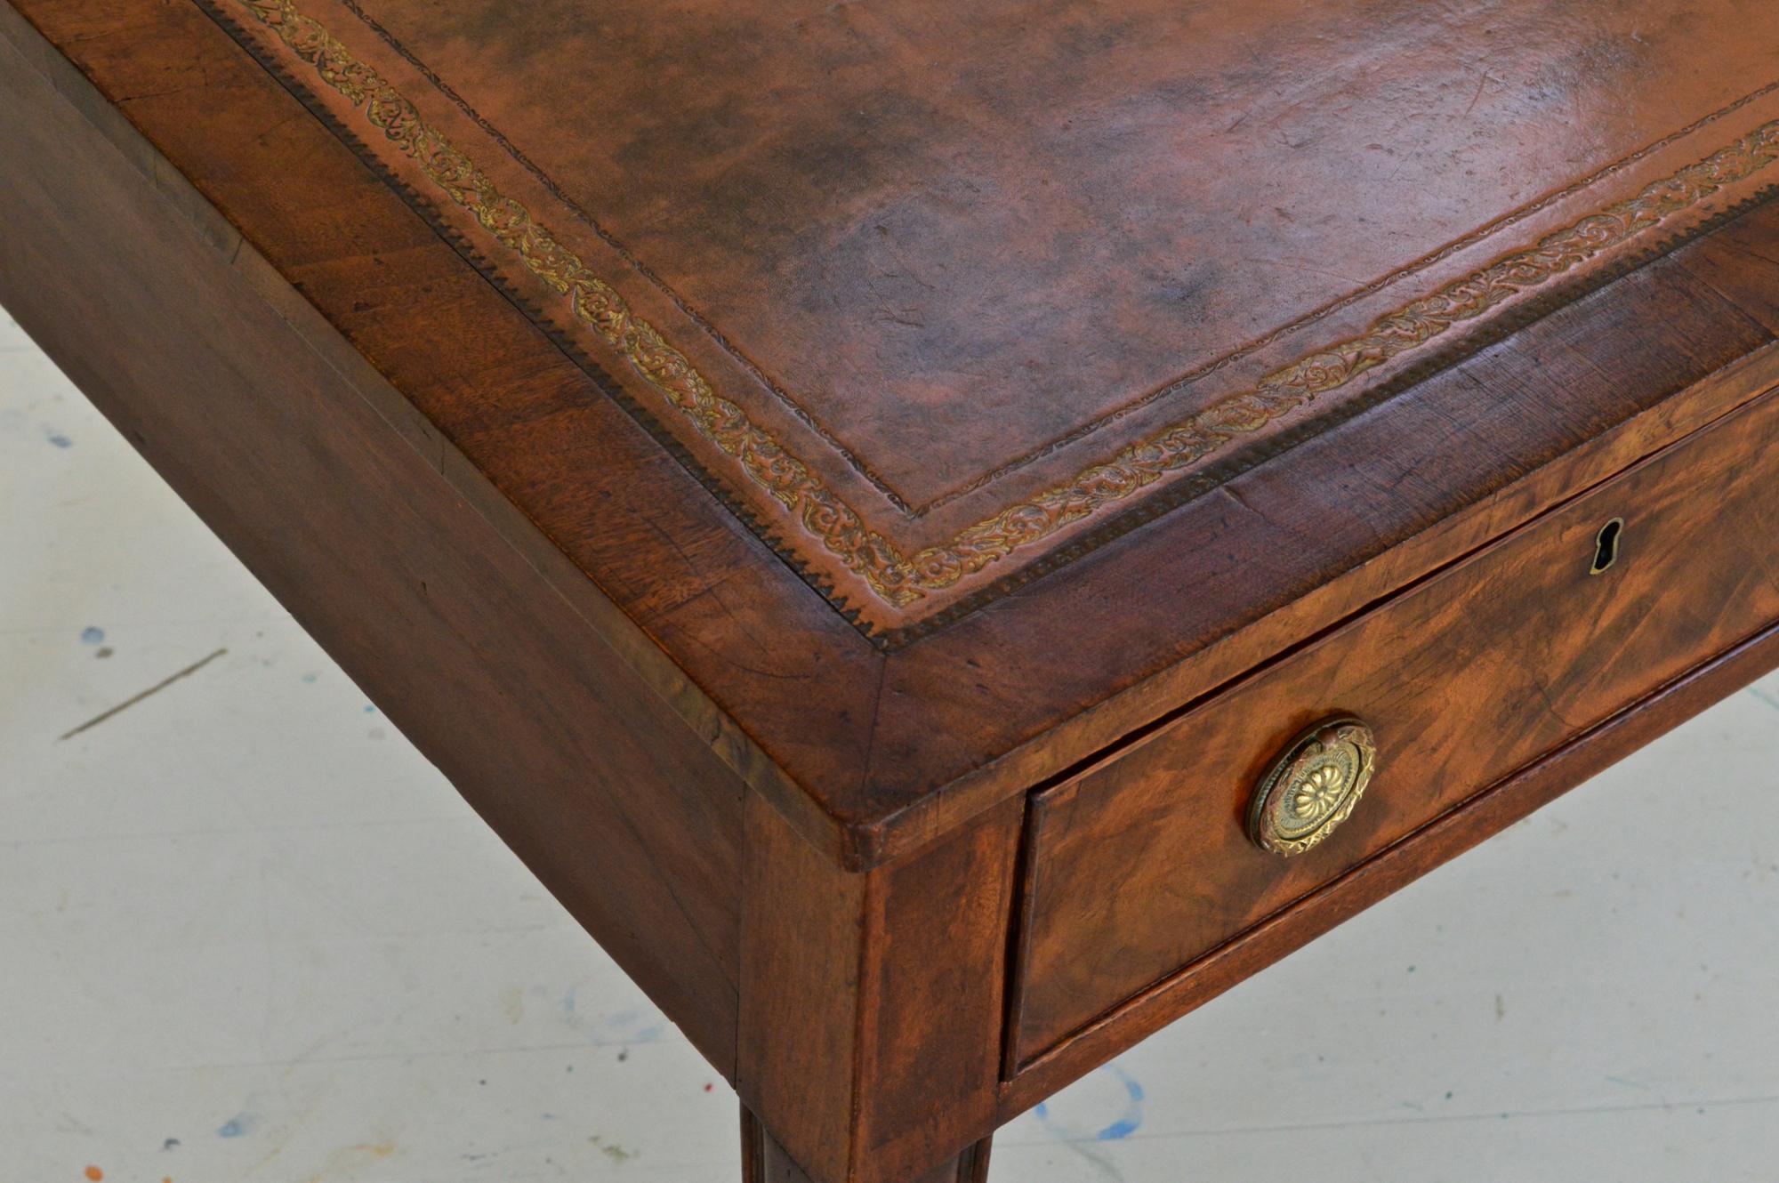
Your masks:
{"label": "entire antique brown wooden desk with leather top and brass knob", "polygon": [[735,1083],[749,1178],[980,1179],[1779,665],[1775,48],[7,0],[0,301]]}

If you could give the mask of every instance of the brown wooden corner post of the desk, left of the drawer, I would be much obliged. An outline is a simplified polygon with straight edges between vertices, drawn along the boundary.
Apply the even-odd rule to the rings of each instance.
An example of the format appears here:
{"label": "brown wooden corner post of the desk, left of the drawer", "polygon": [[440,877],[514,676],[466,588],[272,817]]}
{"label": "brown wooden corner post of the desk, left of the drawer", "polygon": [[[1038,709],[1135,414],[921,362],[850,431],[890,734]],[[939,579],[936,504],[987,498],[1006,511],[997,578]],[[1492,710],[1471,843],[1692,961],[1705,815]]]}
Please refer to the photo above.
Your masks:
{"label": "brown wooden corner post of the desk, left of the drawer", "polygon": [[1023,801],[872,872],[747,809],[737,1087],[820,1183],[898,1183],[996,1124]]}

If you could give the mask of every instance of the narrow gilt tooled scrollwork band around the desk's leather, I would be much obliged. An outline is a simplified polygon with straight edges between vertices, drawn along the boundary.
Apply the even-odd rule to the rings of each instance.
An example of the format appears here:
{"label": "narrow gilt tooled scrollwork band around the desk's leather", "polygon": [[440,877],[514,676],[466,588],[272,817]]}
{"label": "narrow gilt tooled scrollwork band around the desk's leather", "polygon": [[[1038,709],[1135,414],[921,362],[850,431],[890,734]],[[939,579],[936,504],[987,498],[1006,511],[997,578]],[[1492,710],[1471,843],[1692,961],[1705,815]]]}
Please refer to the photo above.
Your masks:
{"label": "narrow gilt tooled scrollwork band around the desk's leather", "polygon": [[413,101],[375,68],[352,57],[320,21],[301,12],[294,0],[238,4],[361,110],[390,144],[512,251],[532,276],[562,295],[576,320],[592,327],[703,438],[733,457],[749,480],[897,608],[952,589],[1016,550],[1126,502],[1236,438],[1254,434],[1318,395],[1550,285],[1779,158],[1779,119],[1774,119],[1704,160],[1646,185],[1638,194],[1379,317],[1357,336],[1267,374],[1252,390],[1229,395],[1083,468],[1071,480],[966,527],[945,543],[904,555],[891,539],[870,530],[845,500],[740,406],[719,395],[655,326],[637,317],[608,283],[587,270],[530,210],[503,194],[473,160],[427,125]]}

